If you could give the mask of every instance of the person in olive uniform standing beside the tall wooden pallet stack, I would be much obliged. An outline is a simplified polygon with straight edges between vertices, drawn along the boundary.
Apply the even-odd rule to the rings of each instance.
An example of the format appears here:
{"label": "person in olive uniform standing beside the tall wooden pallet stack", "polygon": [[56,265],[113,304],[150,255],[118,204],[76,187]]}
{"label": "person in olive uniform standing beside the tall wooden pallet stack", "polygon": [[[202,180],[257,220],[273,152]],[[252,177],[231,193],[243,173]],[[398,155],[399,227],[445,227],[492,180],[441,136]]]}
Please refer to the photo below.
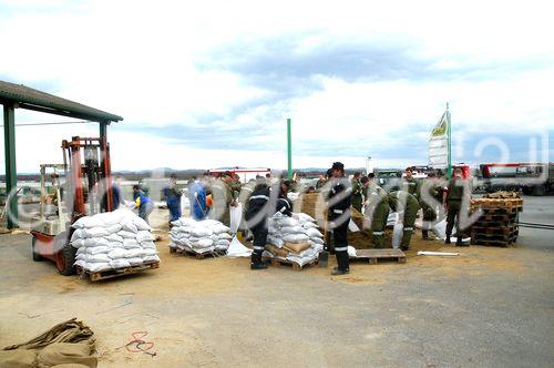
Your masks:
{"label": "person in olive uniform standing beside the tall wooden pallet stack", "polygon": [[455,224],[456,246],[469,246],[462,243],[462,229],[460,225],[460,212],[462,211],[462,201],[464,197],[465,183],[462,178],[462,170],[454,170],[454,176],[443,194],[444,209],[447,209],[447,238],[444,244],[450,244],[450,236]]}

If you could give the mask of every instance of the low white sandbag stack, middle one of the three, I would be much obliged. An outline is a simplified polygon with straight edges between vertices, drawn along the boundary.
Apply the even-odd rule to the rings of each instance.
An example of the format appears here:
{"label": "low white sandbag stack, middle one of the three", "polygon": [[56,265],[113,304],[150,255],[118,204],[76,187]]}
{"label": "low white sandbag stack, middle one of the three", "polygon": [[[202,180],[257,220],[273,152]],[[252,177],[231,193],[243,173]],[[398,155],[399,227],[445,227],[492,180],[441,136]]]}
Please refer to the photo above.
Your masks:
{"label": "low white sandbag stack, middle one of the three", "polygon": [[181,251],[196,254],[226,252],[233,238],[230,228],[215,219],[181,217],[172,225],[170,247]]}

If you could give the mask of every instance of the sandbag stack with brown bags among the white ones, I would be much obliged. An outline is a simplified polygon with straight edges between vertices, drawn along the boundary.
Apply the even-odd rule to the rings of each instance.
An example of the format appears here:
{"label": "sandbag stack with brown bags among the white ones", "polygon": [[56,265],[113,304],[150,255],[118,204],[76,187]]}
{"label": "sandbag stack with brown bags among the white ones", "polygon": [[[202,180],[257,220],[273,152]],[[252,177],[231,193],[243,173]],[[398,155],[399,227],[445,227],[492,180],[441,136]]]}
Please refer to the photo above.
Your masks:
{"label": "sandbag stack with brown bags among the white ones", "polygon": [[269,219],[265,256],[294,262],[300,266],[312,263],[324,248],[324,234],[316,221],[304,213],[298,218],[277,213]]}

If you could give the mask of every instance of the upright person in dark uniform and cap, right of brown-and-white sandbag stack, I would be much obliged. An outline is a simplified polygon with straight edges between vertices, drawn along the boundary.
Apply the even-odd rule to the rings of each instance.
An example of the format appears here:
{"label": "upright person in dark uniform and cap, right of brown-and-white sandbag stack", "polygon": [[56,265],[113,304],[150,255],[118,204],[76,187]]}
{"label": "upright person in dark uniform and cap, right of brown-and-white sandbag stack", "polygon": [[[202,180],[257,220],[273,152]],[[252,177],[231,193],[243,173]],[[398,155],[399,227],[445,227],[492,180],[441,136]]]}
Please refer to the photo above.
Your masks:
{"label": "upright person in dark uniform and cap, right of brown-and-white sandbag stack", "polygon": [[351,187],[345,177],[345,165],[340,162],[332,164],[331,188],[327,196],[329,227],[332,228],[337,267],[331,275],[345,275],[350,272],[348,256],[348,223],[350,222]]}

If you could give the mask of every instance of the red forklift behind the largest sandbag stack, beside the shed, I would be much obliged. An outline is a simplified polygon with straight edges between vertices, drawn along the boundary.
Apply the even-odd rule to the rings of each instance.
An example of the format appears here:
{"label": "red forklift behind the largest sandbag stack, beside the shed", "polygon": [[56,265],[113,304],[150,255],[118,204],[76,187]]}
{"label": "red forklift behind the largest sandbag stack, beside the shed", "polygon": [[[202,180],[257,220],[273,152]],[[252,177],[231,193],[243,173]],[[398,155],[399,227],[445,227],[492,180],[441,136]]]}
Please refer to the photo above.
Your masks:
{"label": "red forklift behind the largest sandbag stack, beside the shed", "polygon": [[[110,145],[105,137],[73,136],[62,141],[62,151],[63,164],[41,165],[41,209],[31,231],[32,256],[33,260],[54,262],[60,274],[69,276],[74,274],[76,253],[70,244],[74,231],[71,225],[83,216],[111,212],[113,197]],[[50,191],[49,170],[53,170]],[[60,170],[64,183],[59,180]]]}

